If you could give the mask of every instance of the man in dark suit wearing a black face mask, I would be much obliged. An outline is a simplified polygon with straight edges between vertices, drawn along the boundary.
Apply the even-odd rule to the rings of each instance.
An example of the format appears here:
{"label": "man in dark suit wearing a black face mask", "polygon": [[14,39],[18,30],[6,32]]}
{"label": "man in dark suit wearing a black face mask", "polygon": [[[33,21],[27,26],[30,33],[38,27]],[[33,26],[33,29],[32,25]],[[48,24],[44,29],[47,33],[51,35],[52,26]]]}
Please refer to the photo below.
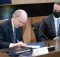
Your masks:
{"label": "man in dark suit wearing a black face mask", "polygon": [[[59,37],[59,25],[57,24],[59,20],[60,23],[60,3],[54,3],[53,13],[50,14],[47,18],[43,19],[40,24],[40,38],[38,41],[52,40],[55,37]],[[42,34],[42,33],[44,34]]]}

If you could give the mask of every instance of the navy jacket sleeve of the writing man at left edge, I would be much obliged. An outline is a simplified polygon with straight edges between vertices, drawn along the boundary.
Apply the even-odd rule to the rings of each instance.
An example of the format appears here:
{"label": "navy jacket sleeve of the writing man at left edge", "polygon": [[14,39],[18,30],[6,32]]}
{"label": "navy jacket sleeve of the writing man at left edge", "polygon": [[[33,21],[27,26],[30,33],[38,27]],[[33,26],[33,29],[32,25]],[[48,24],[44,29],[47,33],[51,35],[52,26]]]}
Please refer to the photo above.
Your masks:
{"label": "navy jacket sleeve of the writing man at left edge", "polygon": [[0,25],[0,49],[8,48],[9,44],[10,43],[5,41],[5,33],[4,33],[4,30],[3,30],[3,27]]}

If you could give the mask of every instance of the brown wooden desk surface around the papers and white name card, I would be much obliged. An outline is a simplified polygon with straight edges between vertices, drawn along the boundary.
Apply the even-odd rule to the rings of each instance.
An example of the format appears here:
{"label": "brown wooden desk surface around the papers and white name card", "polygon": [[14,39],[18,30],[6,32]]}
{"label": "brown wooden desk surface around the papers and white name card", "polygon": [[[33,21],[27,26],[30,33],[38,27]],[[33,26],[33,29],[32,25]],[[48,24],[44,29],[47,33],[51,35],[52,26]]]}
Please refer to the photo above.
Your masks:
{"label": "brown wooden desk surface around the papers and white name card", "polygon": [[[57,40],[57,42],[59,42],[60,44],[60,40]],[[49,43],[51,46],[56,46],[56,40],[50,40]],[[48,41],[45,42],[45,45],[48,46]],[[0,57],[3,57],[1,54],[3,55],[4,53],[0,53]],[[10,57],[10,56],[5,55],[4,57]],[[51,51],[48,54],[44,54],[40,56],[31,56],[31,54],[27,56],[23,56],[22,54],[20,54],[18,57],[60,57],[60,48],[58,47],[54,51]]]}

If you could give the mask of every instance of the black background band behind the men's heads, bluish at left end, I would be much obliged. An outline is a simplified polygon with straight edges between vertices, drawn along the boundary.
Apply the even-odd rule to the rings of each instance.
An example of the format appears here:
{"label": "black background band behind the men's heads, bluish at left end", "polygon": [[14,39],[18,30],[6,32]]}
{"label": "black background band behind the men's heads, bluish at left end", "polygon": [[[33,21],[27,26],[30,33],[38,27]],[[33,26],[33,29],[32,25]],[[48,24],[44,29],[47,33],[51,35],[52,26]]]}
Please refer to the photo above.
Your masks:
{"label": "black background band behind the men's heads, bluish at left end", "polygon": [[17,9],[24,9],[29,17],[47,16],[52,13],[54,3],[0,5],[0,19],[10,19]]}

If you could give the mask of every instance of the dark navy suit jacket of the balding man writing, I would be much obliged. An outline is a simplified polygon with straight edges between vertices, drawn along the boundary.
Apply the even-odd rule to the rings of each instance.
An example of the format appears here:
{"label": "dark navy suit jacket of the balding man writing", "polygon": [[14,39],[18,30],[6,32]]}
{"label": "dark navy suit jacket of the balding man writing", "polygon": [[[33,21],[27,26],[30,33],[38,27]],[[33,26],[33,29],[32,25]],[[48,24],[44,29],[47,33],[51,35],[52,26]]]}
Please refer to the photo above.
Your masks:
{"label": "dark navy suit jacket of the balding man writing", "polygon": [[[22,27],[16,29],[16,40],[23,40],[22,30]],[[10,43],[13,43],[13,29],[11,20],[7,20],[0,24],[0,49],[8,48]]]}

